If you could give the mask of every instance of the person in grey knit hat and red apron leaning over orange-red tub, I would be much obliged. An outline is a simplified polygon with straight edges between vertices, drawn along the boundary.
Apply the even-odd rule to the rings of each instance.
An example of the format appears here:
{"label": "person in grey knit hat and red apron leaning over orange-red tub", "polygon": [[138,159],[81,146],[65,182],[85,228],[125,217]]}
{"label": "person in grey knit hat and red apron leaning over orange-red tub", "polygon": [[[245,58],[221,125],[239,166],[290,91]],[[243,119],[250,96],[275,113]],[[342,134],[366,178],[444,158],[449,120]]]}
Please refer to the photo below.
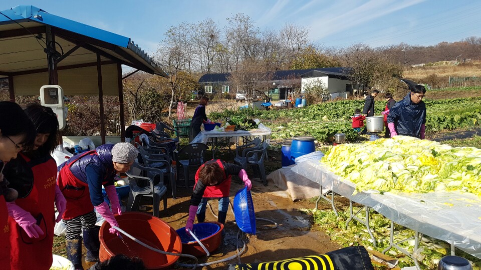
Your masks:
{"label": "person in grey knit hat and red apron leaning over orange-red tub", "polygon": [[[75,269],[83,269],[81,232],[87,248],[86,262],[98,261],[99,227],[95,226],[97,212],[110,223],[110,233],[119,232],[114,214],[122,214],[119,198],[114,186],[117,172],[127,172],[139,151],[127,142],[103,144],[95,150],[72,156],[58,167],[58,185],[67,200],[62,215],[66,225],[67,258],[74,263]],[[102,195],[105,187],[112,210]]]}

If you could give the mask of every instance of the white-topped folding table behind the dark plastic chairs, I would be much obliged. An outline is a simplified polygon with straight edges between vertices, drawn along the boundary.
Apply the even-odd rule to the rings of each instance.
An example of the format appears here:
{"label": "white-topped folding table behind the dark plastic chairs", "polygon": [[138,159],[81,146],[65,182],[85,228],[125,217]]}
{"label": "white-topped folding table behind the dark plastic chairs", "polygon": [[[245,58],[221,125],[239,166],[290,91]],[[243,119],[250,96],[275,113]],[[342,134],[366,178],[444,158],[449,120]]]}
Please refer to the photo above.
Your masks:
{"label": "white-topped folding table behind the dark plastic chairs", "polygon": [[[269,129],[262,129],[262,128],[256,128],[256,129],[251,129],[251,130],[236,130],[236,131],[216,131],[216,130],[210,130],[210,131],[200,131],[197,136],[190,142],[190,143],[195,143],[195,142],[202,142],[207,144],[207,141],[212,142],[212,159],[214,159],[215,152],[218,150],[219,143],[223,141],[229,141],[230,138],[232,137],[250,137],[250,136],[261,136],[263,141],[271,137],[272,131]],[[220,142],[217,140],[220,138]]]}

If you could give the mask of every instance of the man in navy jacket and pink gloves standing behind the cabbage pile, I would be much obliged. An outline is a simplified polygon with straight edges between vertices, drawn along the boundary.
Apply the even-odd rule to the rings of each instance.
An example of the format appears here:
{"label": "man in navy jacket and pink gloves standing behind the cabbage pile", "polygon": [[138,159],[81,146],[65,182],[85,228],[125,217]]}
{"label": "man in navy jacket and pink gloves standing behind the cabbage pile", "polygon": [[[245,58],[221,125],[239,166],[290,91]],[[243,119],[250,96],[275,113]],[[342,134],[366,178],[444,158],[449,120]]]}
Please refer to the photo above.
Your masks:
{"label": "man in navy jacket and pink gloves standing behind the cabbage pile", "polygon": [[425,93],[424,86],[415,85],[403,100],[389,110],[387,124],[391,137],[406,135],[424,139],[426,104],[422,98]]}

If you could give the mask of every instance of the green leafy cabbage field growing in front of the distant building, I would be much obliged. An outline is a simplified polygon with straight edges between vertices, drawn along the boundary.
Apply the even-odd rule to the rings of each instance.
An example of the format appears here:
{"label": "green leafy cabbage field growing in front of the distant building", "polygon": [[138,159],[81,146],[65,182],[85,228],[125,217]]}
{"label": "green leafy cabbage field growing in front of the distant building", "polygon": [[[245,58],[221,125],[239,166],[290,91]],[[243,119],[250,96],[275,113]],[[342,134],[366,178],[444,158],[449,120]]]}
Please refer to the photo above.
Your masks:
{"label": "green leafy cabbage field growing in front of the distant building", "polygon": [[[426,99],[425,103],[427,132],[480,125],[481,97]],[[209,118],[224,119],[234,116],[259,118],[272,128],[272,139],[312,135],[318,141],[326,141],[335,133],[346,133],[347,140],[354,141],[357,133],[351,128],[350,116],[354,114],[356,108],[362,109],[363,104],[364,100],[340,100],[295,109],[226,109],[210,113]],[[375,115],[380,115],[384,107],[384,99],[376,99]]]}

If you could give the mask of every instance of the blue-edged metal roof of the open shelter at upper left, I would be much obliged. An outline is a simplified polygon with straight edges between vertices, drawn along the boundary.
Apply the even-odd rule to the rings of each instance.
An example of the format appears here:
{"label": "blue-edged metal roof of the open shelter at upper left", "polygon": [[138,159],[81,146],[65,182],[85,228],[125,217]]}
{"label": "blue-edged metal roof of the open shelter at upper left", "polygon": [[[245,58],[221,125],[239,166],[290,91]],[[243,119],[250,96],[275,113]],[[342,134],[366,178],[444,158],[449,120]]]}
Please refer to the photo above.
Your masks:
{"label": "blue-edged metal roof of the open shelter at upper left", "polygon": [[[77,46],[58,66],[113,60],[148,73],[167,76],[160,66],[129,37],[60,17],[33,5],[0,11],[0,75],[16,75],[46,68],[46,26],[51,26],[57,50]],[[4,57],[5,56],[5,57]],[[67,55],[66,55],[67,56]],[[17,73],[16,73],[17,72]]]}

